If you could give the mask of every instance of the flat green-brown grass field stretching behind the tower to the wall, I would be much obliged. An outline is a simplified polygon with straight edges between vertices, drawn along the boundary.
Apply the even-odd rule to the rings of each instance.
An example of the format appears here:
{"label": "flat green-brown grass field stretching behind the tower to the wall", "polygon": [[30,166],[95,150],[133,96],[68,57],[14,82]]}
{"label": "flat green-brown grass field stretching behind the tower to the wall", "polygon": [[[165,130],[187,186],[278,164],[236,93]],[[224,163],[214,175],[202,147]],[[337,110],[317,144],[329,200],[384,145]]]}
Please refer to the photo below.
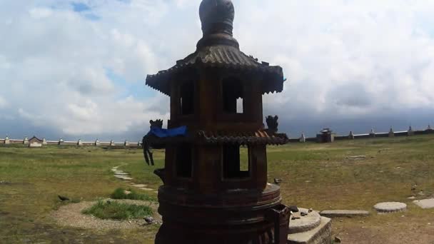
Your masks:
{"label": "flat green-brown grass field stretching behind the tower to the wall", "polygon": [[[359,155],[366,158],[349,158]],[[163,151],[154,156],[155,168],[161,168]],[[49,218],[66,204],[57,195],[98,200],[129,188],[113,177],[114,166],[131,173],[135,183],[154,189],[161,183],[140,150],[0,146],[0,181],[9,182],[0,184],[0,243],[153,243],[154,226],[83,230],[57,226]],[[425,198],[434,193],[434,136],[269,147],[268,178],[283,179],[284,203],[303,208],[372,210],[383,201],[408,203],[405,213],[334,219],[333,233],[345,243],[434,243],[434,210],[407,199],[415,184]]]}

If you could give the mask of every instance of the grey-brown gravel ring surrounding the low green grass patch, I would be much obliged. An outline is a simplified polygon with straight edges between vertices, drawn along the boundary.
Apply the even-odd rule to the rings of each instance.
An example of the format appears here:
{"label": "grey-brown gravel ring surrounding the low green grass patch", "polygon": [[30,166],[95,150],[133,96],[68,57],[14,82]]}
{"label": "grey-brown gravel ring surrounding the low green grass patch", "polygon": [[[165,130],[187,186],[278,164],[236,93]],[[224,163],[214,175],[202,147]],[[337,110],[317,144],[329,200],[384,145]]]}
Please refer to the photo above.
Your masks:
{"label": "grey-brown gravel ring surrounding the low green grass patch", "polygon": [[[111,200],[111,199],[106,199]],[[157,213],[158,203],[152,203],[143,200],[111,200],[120,203],[131,203],[136,205],[149,205],[153,210],[153,218],[156,224],[161,223],[161,215]],[[61,206],[59,210],[51,213],[51,218],[54,218],[56,223],[61,226],[69,226],[75,228],[86,228],[96,230],[113,230],[113,229],[134,229],[145,228],[146,222],[143,219],[137,220],[101,220],[92,215],[84,215],[81,210],[91,207],[94,202],[81,202],[70,203],[68,205]]]}

